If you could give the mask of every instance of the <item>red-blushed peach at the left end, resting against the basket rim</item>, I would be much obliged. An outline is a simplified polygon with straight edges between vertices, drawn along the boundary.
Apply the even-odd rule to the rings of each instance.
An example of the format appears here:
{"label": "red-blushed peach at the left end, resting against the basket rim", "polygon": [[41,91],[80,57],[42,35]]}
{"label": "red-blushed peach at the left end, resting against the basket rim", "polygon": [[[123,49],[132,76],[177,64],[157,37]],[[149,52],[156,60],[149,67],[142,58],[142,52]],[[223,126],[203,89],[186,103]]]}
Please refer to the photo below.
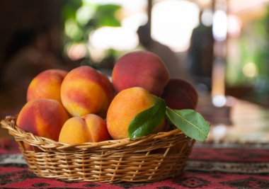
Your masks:
{"label": "red-blushed peach at the left end, resting against the basket rim", "polygon": [[21,129],[55,141],[69,115],[61,103],[52,99],[38,98],[23,105],[16,124]]}

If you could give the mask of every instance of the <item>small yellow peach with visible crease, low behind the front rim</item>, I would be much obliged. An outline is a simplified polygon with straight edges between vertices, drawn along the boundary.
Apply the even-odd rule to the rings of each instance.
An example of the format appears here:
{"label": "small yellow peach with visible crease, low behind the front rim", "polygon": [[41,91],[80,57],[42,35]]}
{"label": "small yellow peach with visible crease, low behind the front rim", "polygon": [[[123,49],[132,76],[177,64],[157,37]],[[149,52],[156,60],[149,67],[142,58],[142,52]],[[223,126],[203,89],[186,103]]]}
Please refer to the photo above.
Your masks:
{"label": "small yellow peach with visible crease, low behind the front rim", "polygon": [[101,142],[108,139],[110,135],[105,120],[94,114],[70,118],[64,123],[59,134],[59,142],[67,144]]}

